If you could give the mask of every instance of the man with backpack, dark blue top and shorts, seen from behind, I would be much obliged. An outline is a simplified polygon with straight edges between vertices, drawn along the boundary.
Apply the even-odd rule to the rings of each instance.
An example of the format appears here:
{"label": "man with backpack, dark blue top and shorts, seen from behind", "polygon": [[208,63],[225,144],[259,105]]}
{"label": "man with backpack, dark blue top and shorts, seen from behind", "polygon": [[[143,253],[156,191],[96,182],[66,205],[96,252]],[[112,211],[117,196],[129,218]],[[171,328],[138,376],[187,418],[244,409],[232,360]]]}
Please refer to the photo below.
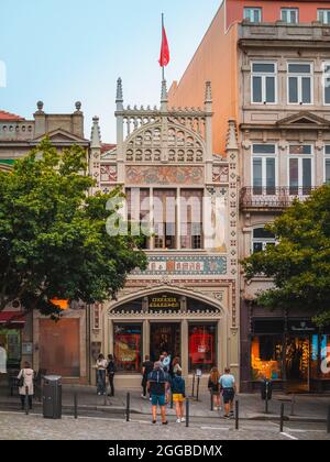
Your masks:
{"label": "man with backpack, dark blue top and shorts, seen from behind", "polygon": [[168,425],[166,420],[166,392],[169,388],[169,376],[156,362],[154,370],[148,374],[147,388],[152,398],[153,424],[157,422],[157,406],[161,408],[162,424]]}

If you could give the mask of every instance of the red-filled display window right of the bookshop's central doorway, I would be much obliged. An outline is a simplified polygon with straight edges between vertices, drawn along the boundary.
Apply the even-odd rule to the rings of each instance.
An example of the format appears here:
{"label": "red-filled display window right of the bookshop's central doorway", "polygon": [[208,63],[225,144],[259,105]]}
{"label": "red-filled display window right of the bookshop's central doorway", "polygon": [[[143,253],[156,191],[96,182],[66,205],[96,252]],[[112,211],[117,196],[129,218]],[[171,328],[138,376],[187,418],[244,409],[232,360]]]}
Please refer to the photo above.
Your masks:
{"label": "red-filled display window right of the bookshop's central doorway", "polygon": [[217,364],[217,324],[189,326],[189,371],[209,372]]}

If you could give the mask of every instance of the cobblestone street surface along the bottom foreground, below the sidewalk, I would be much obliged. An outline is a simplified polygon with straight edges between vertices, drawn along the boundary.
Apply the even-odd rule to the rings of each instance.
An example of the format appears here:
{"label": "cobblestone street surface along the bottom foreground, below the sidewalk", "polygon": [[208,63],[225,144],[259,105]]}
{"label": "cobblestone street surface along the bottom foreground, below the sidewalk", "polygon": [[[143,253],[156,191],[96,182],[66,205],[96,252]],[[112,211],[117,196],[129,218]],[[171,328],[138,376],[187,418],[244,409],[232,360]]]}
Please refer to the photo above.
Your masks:
{"label": "cobblestone street surface along the bottom foreground, below the sidewalk", "polygon": [[[161,433],[162,432],[162,433]],[[274,422],[242,421],[241,429],[234,430],[233,421],[219,420],[217,424],[194,422],[189,428],[170,421],[168,427],[158,422],[153,426],[147,419],[133,418],[102,419],[82,417],[78,420],[64,417],[47,420],[38,415],[25,416],[21,413],[0,413],[0,440],[326,440],[324,426],[288,422],[284,433],[279,433]]]}

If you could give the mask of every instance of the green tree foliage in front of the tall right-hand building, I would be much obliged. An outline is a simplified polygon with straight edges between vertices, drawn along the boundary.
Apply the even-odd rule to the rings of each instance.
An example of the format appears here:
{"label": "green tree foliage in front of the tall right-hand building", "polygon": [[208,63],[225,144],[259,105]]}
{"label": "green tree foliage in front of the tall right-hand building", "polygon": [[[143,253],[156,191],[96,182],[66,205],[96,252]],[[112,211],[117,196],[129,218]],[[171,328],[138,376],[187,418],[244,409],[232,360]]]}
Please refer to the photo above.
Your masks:
{"label": "green tree foliage in front of the tall right-hand building", "polygon": [[246,278],[264,274],[274,287],[258,294],[268,308],[311,312],[319,326],[330,323],[330,185],[296,200],[272,226],[278,245],[242,262]]}

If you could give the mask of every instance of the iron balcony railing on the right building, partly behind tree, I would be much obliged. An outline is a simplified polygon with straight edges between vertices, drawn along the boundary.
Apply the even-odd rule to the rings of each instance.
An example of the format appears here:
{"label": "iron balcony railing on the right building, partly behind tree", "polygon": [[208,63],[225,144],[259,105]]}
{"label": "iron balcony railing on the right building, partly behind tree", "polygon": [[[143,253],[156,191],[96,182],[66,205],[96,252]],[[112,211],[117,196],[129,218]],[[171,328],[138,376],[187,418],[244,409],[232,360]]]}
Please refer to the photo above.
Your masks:
{"label": "iron balcony railing on the right building, partly behind tree", "polygon": [[315,186],[245,187],[241,189],[240,206],[242,209],[284,209],[295,199],[305,200],[315,189]]}

